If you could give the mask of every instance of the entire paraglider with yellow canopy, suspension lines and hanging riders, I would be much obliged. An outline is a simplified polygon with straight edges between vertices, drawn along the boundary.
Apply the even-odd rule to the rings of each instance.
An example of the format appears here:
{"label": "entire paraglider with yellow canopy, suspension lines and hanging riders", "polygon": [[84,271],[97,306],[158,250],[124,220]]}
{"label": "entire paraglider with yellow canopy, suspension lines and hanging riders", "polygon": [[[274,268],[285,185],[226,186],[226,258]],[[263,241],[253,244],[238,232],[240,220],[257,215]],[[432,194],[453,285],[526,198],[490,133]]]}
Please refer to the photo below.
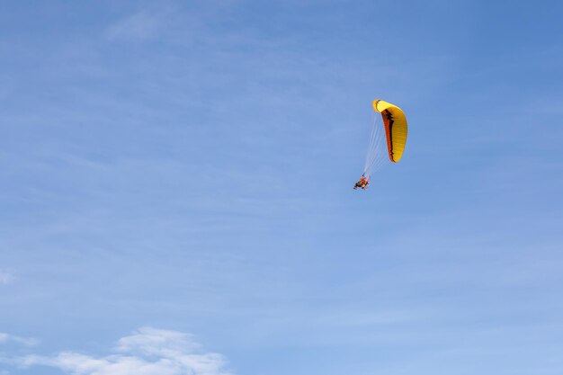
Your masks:
{"label": "entire paraglider with yellow canopy, suspension lines and hanging riders", "polygon": [[[370,144],[366,156],[363,174],[353,189],[365,190],[370,184],[371,174],[377,171],[389,156],[392,163],[397,163],[403,156],[407,143],[407,116],[397,105],[376,99],[372,103],[373,110],[381,114],[375,117],[371,127]],[[385,149],[387,148],[387,153]]]}

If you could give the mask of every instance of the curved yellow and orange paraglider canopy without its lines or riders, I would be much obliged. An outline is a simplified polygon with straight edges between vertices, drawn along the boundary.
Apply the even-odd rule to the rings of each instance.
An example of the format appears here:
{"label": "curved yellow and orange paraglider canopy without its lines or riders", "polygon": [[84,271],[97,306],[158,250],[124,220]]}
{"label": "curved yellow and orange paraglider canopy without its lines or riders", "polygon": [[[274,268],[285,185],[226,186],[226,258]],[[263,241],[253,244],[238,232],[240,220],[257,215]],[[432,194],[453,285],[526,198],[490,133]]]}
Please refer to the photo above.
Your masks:
{"label": "curved yellow and orange paraglider canopy without its lines or riders", "polygon": [[380,99],[373,101],[373,109],[381,113],[387,136],[389,159],[397,163],[403,156],[407,143],[407,117],[397,105]]}

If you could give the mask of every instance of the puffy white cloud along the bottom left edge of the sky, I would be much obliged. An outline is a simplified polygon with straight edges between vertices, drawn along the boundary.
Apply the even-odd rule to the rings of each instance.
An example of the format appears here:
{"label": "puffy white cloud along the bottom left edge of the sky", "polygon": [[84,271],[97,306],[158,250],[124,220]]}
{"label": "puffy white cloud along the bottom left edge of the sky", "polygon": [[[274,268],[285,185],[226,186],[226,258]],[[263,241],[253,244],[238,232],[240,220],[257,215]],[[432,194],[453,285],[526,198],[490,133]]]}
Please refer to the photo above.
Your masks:
{"label": "puffy white cloud along the bottom left edge of the sky", "polygon": [[122,337],[115,354],[96,357],[62,352],[54,356],[27,355],[24,367],[49,366],[70,375],[229,375],[218,353],[201,353],[191,335],[151,327]]}

